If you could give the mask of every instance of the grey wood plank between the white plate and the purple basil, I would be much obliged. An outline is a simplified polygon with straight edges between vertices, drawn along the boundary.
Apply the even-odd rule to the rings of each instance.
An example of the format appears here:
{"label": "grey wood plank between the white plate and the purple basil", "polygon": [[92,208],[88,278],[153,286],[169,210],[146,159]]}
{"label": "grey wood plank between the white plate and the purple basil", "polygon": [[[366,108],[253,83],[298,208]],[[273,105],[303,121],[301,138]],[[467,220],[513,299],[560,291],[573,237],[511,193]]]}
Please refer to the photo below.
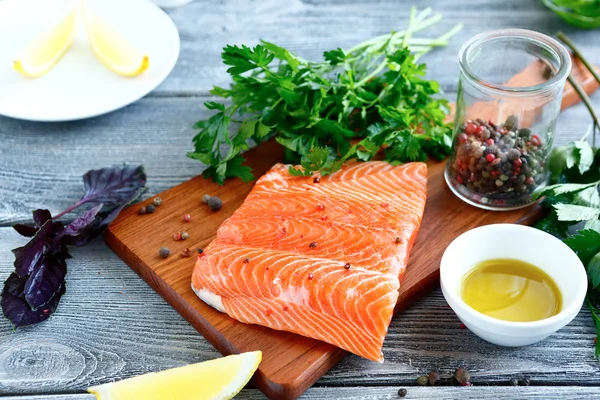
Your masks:
{"label": "grey wood plank between the white plate and the purple basil", "polygon": [[[448,99],[456,94],[447,93]],[[81,196],[89,169],[127,162],[143,164],[148,195],[173,187],[203,166],[185,156],[190,127],[209,114],[209,98],[147,98],[87,121],[43,124],[0,117],[0,226],[29,220],[31,210],[60,212]],[[593,97],[600,107],[600,94]],[[565,110],[556,144],[580,138],[590,126],[582,105]],[[72,215],[68,215],[70,218]]]}

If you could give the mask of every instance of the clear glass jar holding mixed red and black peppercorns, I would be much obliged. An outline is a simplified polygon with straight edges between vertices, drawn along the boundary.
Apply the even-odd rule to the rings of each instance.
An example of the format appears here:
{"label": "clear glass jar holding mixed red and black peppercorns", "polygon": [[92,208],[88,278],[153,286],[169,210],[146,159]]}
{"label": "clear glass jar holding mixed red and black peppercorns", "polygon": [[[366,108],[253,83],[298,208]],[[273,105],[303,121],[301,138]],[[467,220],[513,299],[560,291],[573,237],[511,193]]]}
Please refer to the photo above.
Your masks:
{"label": "clear glass jar holding mixed red and black peppercorns", "polygon": [[489,210],[532,203],[548,182],[548,157],[571,57],[524,29],[479,34],[463,45],[445,177],[462,200]]}

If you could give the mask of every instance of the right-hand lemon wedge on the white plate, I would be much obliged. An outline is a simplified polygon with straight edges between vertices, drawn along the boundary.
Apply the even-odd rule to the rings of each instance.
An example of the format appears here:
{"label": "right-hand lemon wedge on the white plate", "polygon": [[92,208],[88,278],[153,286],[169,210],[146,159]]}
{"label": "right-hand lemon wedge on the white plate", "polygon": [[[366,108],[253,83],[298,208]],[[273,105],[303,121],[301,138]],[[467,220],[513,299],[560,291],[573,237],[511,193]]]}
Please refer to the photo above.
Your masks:
{"label": "right-hand lemon wedge on the white plate", "polygon": [[[83,8],[83,1],[82,1]],[[111,71],[122,76],[137,76],[148,69],[150,59],[136,49],[96,14],[84,10],[88,41],[94,54]]]}

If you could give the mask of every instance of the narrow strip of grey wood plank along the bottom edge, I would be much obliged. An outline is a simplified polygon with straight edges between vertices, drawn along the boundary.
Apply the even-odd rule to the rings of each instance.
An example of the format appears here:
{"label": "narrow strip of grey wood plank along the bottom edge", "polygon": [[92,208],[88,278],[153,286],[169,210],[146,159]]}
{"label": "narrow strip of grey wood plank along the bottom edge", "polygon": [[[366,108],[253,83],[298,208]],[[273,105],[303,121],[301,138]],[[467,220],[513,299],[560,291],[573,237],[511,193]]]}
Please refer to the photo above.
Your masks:
{"label": "narrow strip of grey wood plank along the bottom edge", "polygon": [[[345,388],[311,388],[301,397],[302,400],[344,399],[344,400],[384,400],[399,399],[400,387],[345,387]],[[594,387],[405,387],[408,391],[406,399],[549,399],[565,400],[595,399],[600,396],[600,388]],[[264,395],[255,389],[245,389],[236,397],[238,400],[259,400]],[[94,400],[90,394],[67,395],[33,395],[10,396],[4,400]]]}

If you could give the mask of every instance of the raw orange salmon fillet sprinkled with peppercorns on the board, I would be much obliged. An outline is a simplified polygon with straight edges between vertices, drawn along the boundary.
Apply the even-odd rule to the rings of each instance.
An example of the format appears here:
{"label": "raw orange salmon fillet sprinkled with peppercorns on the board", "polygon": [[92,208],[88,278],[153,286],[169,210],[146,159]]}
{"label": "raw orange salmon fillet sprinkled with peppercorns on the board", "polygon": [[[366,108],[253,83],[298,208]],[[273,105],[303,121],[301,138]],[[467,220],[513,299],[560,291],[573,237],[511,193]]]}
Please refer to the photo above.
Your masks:
{"label": "raw orange salmon fillet sprinkled with peppercorns on the board", "polygon": [[311,177],[276,164],[198,257],[192,289],[238,321],[382,362],[426,184],[424,163]]}

